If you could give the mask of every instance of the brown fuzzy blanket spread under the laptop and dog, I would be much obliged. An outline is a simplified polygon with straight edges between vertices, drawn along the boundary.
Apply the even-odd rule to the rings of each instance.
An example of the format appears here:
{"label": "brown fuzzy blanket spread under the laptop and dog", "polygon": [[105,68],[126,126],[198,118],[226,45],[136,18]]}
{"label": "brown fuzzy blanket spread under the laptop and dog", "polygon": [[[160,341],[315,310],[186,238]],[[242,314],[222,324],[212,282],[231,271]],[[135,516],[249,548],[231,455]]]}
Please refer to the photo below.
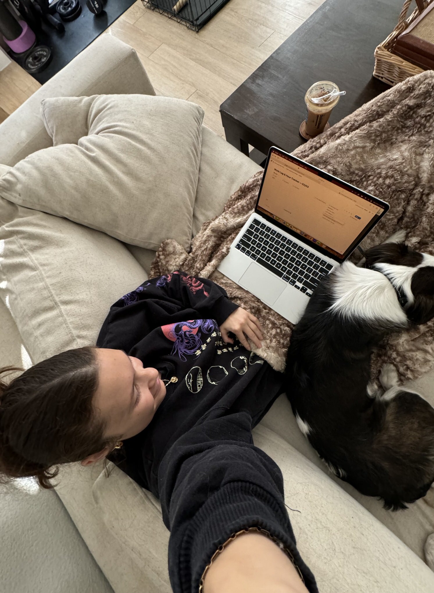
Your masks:
{"label": "brown fuzzy blanket spread under the laptop and dog", "polygon": [[[381,243],[404,229],[407,244],[434,255],[434,71],[407,78],[293,154],[390,203],[390,211],[362,247]],[[174,240],[164,241],[151,275],[182,269],[225,288],[263,326],[263,347],[253,349],[282,371],[292,324],[216,270],[254,209],[261,174],[230,197],[221,215],[203,224],[190,253]],[[355,262],[359,259],[356,254],[352,257]],[[384,362],[395,364],[403,380],[433,368],[434,320],[383,343],[373,356],[374,375]]]}

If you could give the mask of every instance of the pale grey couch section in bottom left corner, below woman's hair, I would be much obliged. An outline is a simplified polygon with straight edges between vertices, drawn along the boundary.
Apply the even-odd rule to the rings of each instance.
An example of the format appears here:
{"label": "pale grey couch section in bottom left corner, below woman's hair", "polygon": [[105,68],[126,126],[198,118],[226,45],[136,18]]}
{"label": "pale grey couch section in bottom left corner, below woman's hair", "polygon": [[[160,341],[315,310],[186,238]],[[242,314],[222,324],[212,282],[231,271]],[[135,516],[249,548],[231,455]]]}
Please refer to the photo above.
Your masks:
{"label": "pale grey couch section in bottom left corner, below woman's hair", "polygon": [[24,478],[0,496],[4,593],[114,593],[56,492]]}

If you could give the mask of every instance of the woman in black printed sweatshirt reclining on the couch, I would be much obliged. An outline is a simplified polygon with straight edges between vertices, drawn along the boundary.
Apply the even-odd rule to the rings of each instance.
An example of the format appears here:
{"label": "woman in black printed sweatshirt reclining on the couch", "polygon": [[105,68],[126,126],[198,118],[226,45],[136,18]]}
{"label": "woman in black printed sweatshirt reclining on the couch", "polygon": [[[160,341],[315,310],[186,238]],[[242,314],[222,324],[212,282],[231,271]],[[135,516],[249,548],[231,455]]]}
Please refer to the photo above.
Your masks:
{"label": "woman in black printed sweatshirt reclining on the couch", "polygon": [[97,347],[0,384],[1,473],[52,487],[55,466],[107,457],[161,500],[175,593],[317,591],[282,474],[251,436],[282,375],[246,336],[261,346],[259,321],[210,280],[144,282],[110,308]]}

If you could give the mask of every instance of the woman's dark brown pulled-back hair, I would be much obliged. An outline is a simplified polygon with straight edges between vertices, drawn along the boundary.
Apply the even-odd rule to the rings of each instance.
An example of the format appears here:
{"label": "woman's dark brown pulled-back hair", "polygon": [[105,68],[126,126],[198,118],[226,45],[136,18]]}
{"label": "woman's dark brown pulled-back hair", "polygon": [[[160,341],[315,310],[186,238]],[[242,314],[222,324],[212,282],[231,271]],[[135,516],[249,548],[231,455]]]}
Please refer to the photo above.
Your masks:
{"label": "woman's dark brown pulled-back hair", "polygon": [[59,464],[82,461],[117,438],[104,438],[106,423],[92,407],[98,387],[96,349],[66,350],[39,362],[9,384],[0,369],[0,483],[34,476],[41,487]]}

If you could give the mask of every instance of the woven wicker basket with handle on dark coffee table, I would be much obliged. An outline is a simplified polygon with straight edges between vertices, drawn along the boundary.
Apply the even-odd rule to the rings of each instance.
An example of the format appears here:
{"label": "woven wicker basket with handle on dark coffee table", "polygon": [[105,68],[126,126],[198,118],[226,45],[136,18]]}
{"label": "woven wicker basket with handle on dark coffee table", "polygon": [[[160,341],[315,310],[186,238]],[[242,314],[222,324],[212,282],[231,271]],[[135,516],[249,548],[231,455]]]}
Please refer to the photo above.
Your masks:
{"label": "woven wicker basket with handle on dark coffee table", "polygon": [[402,82],[406,78],[409,78],[409,76],[414,76],[415,74],[423,72],[422,68],[414,66],[414,64],[406,62],[403,58],[395,56],[391,53],[391,50],[395,45],[398,35],[400,35],[415,18],[419,17],[420,12],[429,6],[431,2],[434,2],[434,0],[416,0],[417,8],[414,9],[410,17],[407,19],[407,12],[409,11],[411,0],[406,0],[404,2],[398,24],[387,39],[375,48],[375,78],[379,78],[383,82],[393,86],[398,84],[398,82]]}

